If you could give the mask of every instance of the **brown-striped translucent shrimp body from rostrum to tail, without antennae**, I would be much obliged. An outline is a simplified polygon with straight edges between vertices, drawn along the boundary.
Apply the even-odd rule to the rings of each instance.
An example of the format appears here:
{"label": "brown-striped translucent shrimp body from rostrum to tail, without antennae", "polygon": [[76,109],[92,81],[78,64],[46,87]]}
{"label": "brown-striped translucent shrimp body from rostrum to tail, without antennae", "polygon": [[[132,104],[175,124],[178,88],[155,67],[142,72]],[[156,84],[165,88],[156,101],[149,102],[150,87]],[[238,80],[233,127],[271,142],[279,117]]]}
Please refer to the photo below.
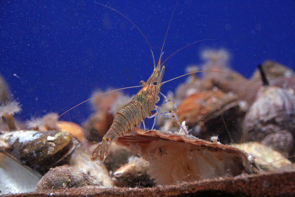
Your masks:
{"label": "brown-striped translucent shrimp body from rostrum to tail, without antennae", "polygon": [[[165,66],[161,65],[160,61],[161,57],[159,58],[158,64],[157,66],[155,66],[154,71],[152,75],[148,78],[147,82],[140,81],[140,84],[143,87],[140,89],[139,92],[137,92],[131,102],[124,105],[124,107],[122,107],[117,112],[112,126],[104,135],[101,143],[92,153],[91,159],[94,160],[99,157],[99,159],[103,161],[113,140],[116,140],[117,138],[119,138],[119,136],[122,136],[127,131],[135,128],[146,117],[149,116],[151,118],[158,114],[154,114],[152,111],[155,110],[155,104],[159,100],[158,93],[160,91],[160,87],[164,84],[164,82],[162,82],[162,79],[165,71]],[[173,111],[170,112],[173,113]]]}

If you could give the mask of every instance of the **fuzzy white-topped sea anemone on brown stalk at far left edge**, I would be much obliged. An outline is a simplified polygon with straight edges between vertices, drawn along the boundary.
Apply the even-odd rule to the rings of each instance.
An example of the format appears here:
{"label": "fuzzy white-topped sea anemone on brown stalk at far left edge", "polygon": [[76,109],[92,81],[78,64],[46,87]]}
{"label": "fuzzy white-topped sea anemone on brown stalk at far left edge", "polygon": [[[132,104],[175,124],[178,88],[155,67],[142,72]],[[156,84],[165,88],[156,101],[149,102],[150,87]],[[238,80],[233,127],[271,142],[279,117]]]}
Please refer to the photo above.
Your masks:
{"label": "fuzzy white-topped sea anemone on brown stalk at far left edge", "polygon": [[9,131],[16,131],[17,126],[15,125],[13,115],[19,113],[22,108],[17,101],[6,101],[0,106],[0,117],[4,117],[9,128]]}

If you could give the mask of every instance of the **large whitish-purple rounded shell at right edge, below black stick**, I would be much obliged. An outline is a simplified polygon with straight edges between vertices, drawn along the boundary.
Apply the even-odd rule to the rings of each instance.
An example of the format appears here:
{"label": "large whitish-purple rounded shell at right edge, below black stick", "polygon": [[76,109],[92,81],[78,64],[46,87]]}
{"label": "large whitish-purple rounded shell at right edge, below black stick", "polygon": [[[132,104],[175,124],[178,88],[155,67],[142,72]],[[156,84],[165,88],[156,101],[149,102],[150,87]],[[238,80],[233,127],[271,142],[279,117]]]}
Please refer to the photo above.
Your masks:
{"label": "large whitish-purple rounded shell at right edge, below black stick", "polygon": [[245,136],[262,141],[267,135],[295,128],[294,93],[275,86],[261,87],[245,117]]}

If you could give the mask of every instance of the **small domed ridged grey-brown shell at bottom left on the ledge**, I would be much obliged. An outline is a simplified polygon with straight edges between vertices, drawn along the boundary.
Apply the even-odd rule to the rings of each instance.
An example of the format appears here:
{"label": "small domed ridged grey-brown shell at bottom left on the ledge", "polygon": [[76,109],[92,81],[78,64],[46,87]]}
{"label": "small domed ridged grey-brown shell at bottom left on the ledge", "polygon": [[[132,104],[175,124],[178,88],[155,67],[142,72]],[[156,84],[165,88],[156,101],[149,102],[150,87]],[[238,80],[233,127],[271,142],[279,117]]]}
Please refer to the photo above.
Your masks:
{"label": "small domed ridged grey-brown shell at bottom left on the ledge", "polygon": [[48,171],[38,182],[35,191],[45,189],[66,189],[92,184],[87,175],[68,165],[58,166]]}

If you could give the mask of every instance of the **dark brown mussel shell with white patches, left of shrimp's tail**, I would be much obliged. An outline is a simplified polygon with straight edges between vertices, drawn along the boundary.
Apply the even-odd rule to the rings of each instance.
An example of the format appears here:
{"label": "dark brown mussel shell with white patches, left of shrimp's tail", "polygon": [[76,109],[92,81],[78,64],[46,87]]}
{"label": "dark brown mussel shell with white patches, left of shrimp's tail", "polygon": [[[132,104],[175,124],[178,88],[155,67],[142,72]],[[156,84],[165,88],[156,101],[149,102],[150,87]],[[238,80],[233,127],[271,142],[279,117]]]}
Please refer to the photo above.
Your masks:
{"label": "dark brown mussel shell with white patches, left of shrimp's tail", "polygon": [[44,172],[68,157],[78,141],[66,131],[14,131],[0,135],[1,152]]}

